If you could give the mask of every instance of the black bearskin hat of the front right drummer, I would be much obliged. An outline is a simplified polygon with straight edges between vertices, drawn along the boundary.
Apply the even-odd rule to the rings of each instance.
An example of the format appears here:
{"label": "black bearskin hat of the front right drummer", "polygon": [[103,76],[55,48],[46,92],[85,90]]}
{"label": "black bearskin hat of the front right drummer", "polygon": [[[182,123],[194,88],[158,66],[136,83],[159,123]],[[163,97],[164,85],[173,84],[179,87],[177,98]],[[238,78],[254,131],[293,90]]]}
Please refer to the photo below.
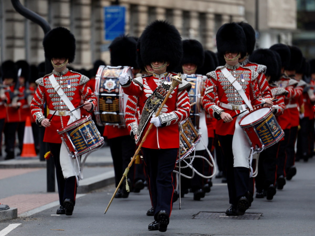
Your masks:
{"label": "black bearskin hat of the front right drummer", "polygon": [[216,34],[216,43],[218,58],[224,58],[226,52],[241,53],[240,58],[246,56],[246,36],[242,27],[235,22],[226,23],[220,27]]}

